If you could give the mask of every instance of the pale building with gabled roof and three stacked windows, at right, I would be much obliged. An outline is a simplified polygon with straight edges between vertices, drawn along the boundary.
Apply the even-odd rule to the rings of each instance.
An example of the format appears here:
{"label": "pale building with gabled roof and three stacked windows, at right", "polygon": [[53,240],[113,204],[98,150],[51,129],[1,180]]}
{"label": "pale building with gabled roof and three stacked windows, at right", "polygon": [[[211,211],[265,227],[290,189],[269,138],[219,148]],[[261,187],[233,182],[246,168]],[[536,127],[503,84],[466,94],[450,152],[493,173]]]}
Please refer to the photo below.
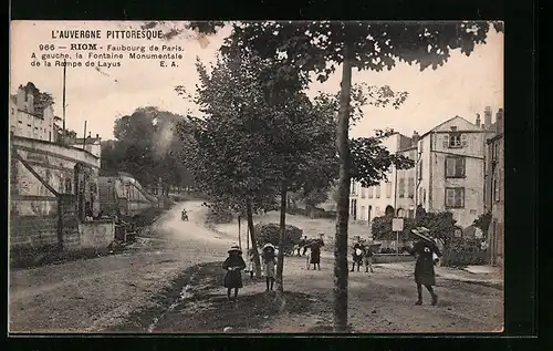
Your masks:
{"label": "pale building with gabled roof and three stacked windows, at right", "polygon": [[[488,111],[487,111],[488,112]],[[420,136],[415,203],[427,211],[448,210],[468,227],[484,210],[486,138],[483,126],[456,116]]]}

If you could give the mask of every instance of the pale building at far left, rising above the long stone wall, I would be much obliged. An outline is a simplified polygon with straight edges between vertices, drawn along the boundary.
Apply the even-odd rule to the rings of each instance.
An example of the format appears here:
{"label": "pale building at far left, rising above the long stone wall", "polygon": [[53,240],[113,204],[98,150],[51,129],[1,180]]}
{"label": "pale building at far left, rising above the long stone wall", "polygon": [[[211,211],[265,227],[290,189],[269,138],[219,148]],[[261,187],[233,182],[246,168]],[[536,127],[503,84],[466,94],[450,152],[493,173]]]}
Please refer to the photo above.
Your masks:
{"label": "pale building at far left, rising above the long stone wall", "polygon": [[43,111],[35,111],[32,91],[20,86],[17,95],[10,96],[10,131],[15,136],[54,142],[52,105]]}

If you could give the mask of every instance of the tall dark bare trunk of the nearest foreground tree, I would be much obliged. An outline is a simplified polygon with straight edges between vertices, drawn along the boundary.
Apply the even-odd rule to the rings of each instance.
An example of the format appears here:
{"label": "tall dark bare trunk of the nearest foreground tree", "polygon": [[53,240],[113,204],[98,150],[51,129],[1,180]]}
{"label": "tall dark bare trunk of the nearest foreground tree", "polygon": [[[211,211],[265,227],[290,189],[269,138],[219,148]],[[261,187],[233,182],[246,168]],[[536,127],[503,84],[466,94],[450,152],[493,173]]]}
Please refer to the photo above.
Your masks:
{"label": "tall dark bare trunk of the nearest foreground tree", "polygon": [[336,237],[334,248],[334,331],[347,331],[347,220],[349,217],[349,100],[352,89],[351,45],[344,45],[336,143],[340,154]]}

